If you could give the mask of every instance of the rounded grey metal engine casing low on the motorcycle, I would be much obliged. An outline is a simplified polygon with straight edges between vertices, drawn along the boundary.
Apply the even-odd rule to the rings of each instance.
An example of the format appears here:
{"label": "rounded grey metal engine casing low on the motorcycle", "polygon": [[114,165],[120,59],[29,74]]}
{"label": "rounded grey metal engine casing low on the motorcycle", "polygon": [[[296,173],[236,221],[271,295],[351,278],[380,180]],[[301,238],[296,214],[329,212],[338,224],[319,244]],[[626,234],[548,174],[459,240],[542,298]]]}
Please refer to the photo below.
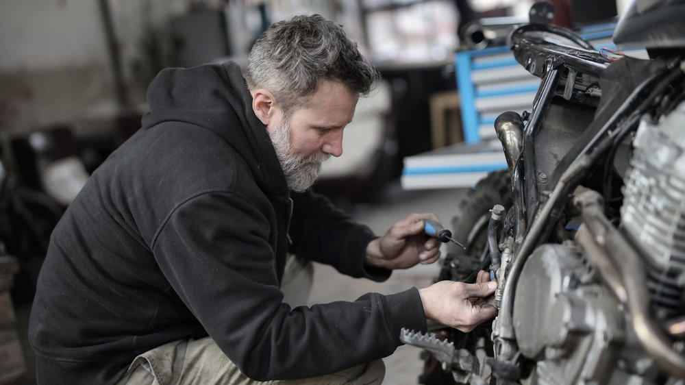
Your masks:
{"label": "rounded grey metal engine casing low on the motorcycle", "polygon": [[627,339],[623,308],[573,243],[530,256],[516,286],[514,330],[523,356],[537,362],[530,384],[627,383],[608,370]]}

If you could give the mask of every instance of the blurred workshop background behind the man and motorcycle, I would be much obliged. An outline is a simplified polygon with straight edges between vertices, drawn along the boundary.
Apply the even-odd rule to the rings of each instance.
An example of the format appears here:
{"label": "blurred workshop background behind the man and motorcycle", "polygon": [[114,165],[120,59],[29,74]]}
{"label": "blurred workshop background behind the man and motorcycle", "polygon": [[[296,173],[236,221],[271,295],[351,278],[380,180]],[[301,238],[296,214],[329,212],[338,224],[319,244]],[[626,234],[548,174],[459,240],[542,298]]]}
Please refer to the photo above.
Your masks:
{"label": "blurred workshop background behind the man and motorcycle", "polygon": [[[551,23],[572,28],[611,29],[625,8],[623,0],[549,2]],[[88,175],[138,129],[147,85],[161,69],[245,66],[274,21],[312,13],[338,21],[382,82],[360,101],[345,154],[324,164],[314,189],[378,233],[410,212],[436,212],[449,223],[464,191],[506,167],[488,136],[492,116],[532,101],[536,84],[526,82],[534,79],[502,74],[516,66],[506,36],[533,3],[0,0],[0,384],[35,382],[25,325],[51,229]],[[460,54],[470,64],[460,65]],[[503,82],[521,97],[512,99],[510,86],[498,93]],[[438,269],[364,286],[316,266],[312,301],[427,286]],[[388,375],[397,377],[387,383],[416,383],[418,351],[407,354],[390,361]]]}

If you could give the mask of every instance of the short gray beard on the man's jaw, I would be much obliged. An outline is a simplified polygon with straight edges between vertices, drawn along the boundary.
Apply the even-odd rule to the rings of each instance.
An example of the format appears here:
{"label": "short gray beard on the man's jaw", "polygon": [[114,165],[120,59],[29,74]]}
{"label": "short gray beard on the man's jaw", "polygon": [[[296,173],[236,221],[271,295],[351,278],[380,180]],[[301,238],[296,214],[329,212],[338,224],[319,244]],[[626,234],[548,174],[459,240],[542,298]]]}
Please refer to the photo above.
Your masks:
{"label": "short gray beard on the man's jaw", "polygon": [[310,188],[321,171],[321,163],[330,158],[330,154],[319,153],[305,157],[290,153],[290,125],[287,121],[279,124],[274,132],[267,130],[273,149],[281,163],[286,182],[291,191],[303,192]]}

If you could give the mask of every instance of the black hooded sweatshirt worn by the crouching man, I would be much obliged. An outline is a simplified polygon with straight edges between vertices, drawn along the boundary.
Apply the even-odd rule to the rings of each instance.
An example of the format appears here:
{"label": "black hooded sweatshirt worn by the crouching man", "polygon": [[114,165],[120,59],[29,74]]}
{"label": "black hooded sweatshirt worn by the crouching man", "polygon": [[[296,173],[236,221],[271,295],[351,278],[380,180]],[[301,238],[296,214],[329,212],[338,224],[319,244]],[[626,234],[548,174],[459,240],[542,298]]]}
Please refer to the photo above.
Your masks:
{"label": "black hooded sweatshirt worn by the crouching man", "polygon": [[207,335],[253,379],[310,377],[425,330],[415,288],[282,303],[288,247],[353,277],[390,272],[364,266],[367,227],[311,192],[290,199],[236,64],[164,70],[147,97],[142,128],[53,232],[29,325],[40,384],[112,384],[138,354]]}

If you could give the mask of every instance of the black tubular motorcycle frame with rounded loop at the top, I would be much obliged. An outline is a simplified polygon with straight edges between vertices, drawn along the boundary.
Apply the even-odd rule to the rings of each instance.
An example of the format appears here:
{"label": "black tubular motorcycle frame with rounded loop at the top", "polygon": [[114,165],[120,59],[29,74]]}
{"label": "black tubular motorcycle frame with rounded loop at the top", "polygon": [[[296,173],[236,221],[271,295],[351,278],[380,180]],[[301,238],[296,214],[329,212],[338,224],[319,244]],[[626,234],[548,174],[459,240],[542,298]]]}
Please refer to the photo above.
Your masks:
{"label": "black tubular motorcycle frame with rounded loop at the top", "polygon": [[[581,48],[571,48],[547,42],[543,38],[526,36],[528,32],[551,32],[575,42]],[[566,100],[574,97],[573,86],[578,73],[600,77],[608,68],[610,62],[594,51],[592,45],[585,42],[569,30],[551,25],[521,25],[514,29],[510,36],[510,47],[514,57],[533,75],[542,77],[542,82],[536,92],[532,113],[527,117],[523,128],[523,149],[516,157],[516,162],[510,164],[512,182],[512,212],[514,221],[510,232],[514,236],[514,252],[512,263],[506,272],[506,286],[503,288],[501,308],[495,328],[495,357],[500,362],[514,364],[518,358],[516,338],[514,335],[513,308],[514,293],[523,265],[532,251],[543,243],[554,228],[553,224],[560,219],[562,212],[569,205],[569,197],[580,184],[591,166],[606,156],[609,149],[623,140],[625,135],[637,126],[643,114],[653,108],[654,100],[675,79],[684,77],[682,68],[683,58],[671,58],[651,76],[643,80],[621,103],[609,119],[595,127],[584,127],[580,138],[574,143],[568,153],[556,165],[556,177],[553,178],[551,191],[540,193],[537,185],[538,169],[536,167],[535,138],[542,128],[543,120],[553,97],[561,95]],[[564,83],[564,90],[559,88]],[[582,98],[575,97],[582,101]],[[503,140],[504,151],[512,156],[512,151]],[[530,226],[528,225],[530,224]],[[623,277],[625,280],[634,277]],[[632,306],[637,308],[637,306]],[[644,308],[642,308],[644,310]],[[636,310],[637,311],[637,310]],[[645,314],[632,314],[634,318]],[[642,330],[643,345],[650,339],[663,340],[654,325],[647,331]],[[665,347],[655,349],[646,346],[657,362],[673,373],[673,362],[680,364],[681,359],[673,358]],[[656,353],[655,353],[656,351]],[[659,354],[661,352],[661,354]],[[680,373],[675,368],[677,373]]]}

